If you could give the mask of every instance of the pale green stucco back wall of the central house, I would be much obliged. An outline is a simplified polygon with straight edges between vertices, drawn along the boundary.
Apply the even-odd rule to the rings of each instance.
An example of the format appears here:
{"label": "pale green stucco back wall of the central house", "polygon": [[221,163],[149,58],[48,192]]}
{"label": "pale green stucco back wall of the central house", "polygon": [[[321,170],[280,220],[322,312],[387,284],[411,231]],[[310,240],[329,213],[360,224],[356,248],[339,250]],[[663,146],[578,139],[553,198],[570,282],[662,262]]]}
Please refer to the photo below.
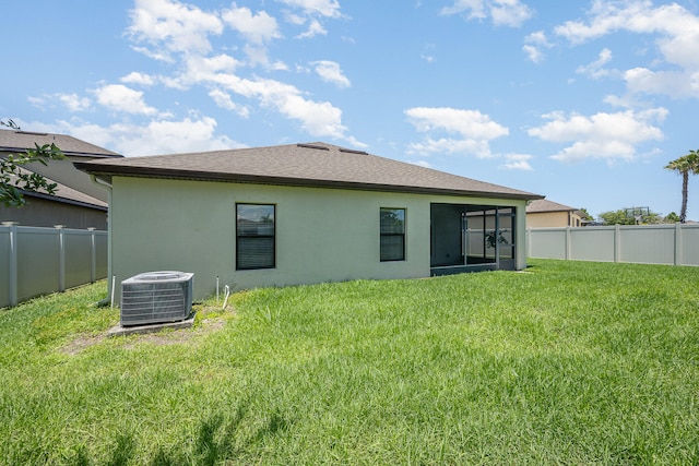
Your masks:
{"label": "pale green stucco back wall of the central house", "polygon": [[[236,203],[274,204],[275,268],[236,271]],[[116,283],[158,270],[194,273],[194,298],[233,289],[430,275],[430,204],[517,207],[525,266],[525,201],[229,182],[112,178]],[[405,208],[405,260],[380,262],[380,208]],[[115,290],[118,298],[119,290]]]}

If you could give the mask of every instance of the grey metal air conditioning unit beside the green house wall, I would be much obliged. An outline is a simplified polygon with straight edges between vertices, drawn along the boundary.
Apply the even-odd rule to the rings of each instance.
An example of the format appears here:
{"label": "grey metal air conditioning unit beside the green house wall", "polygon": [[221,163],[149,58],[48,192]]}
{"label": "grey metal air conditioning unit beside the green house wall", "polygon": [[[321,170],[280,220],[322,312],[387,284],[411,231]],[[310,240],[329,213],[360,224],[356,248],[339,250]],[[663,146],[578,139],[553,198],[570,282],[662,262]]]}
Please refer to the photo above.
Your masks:
{"label": "grey metal air conditioning unit beside the green house wall", "polygon": [[146,272],[121,282],[121,325],[183,321],[192,310],[194,274]]}

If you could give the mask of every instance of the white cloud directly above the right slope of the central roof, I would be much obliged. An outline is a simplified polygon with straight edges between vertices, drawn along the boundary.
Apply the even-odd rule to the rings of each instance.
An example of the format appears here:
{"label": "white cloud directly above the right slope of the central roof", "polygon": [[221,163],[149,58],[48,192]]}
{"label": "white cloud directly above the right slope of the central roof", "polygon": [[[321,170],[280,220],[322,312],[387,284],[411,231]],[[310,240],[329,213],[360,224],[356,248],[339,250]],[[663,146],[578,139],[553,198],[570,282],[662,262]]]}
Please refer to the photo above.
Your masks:
{"label": "white cloud directly above the right slope of the central roof", "polygon": [[[427,134],[423,142],[410,144],[408,153],[490,157],[489,142],[509,133],[506,127],[478,110],[416,107],[405,110],[405,115],[417,131]],[[442,133],[447,136],[440,136]]]}

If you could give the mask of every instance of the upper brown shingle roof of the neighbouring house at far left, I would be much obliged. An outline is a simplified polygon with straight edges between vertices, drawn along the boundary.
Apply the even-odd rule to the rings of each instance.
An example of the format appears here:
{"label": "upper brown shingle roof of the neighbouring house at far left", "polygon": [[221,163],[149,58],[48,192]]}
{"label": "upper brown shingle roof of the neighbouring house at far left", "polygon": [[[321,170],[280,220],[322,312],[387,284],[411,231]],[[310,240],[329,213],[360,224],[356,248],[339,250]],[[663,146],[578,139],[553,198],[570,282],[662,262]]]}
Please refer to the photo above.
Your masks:
{"label": "upper brown shingle roof of the neighbouring house at far left", "polygon": [[121,154],[69,136],[67,134],[34,133],[15,130],[0,130],[0,152],[24,152],[34,144],[56,144],[66,155],[88,157],[123,157]]}

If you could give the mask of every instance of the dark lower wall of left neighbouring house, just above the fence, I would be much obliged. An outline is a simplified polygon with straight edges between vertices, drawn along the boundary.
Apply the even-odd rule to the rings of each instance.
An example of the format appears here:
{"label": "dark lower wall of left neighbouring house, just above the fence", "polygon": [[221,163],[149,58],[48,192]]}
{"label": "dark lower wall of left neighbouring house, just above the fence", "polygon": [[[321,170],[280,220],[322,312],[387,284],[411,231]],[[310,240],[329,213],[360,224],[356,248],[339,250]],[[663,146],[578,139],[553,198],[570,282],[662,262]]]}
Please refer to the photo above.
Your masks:
{"label": "dark lower wall of left neighbouring house, just above the fence", "polygon": [[25,195],[27,204],[22,207],[5,207],[0,204],[0,222],[14,222],[35,227],[107,229],[107,210],[87,208],[48,199]]}

